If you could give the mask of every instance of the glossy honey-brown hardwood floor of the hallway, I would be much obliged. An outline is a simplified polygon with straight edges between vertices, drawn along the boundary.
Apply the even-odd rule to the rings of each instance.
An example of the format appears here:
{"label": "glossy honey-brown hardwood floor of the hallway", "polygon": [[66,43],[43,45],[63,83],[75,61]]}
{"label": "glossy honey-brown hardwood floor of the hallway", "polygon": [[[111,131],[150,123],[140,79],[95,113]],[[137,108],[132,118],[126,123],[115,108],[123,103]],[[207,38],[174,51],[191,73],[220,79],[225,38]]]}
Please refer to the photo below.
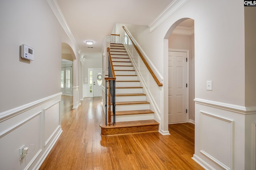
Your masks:
{"label": "glossy honey-brown hardwood floor of the hallway", "polygon": [[169,125],[171,135],[158,132],[100,136],[104,120],[101,98],[84,98],[72,109],[62,97],[63,132],[40,170],[203,170],[192,160],[194,125]]}

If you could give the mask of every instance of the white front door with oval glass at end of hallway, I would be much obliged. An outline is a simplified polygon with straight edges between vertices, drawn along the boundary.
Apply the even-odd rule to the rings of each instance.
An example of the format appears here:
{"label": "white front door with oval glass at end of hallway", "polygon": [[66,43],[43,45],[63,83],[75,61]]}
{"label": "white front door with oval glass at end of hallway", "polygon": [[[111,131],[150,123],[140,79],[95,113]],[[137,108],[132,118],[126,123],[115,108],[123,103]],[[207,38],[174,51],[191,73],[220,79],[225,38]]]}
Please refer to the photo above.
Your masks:
{"label": "white front door with oval glass at end of hallway", "polygon": [[102,96],[102,69],[93,69],[93,96]]}

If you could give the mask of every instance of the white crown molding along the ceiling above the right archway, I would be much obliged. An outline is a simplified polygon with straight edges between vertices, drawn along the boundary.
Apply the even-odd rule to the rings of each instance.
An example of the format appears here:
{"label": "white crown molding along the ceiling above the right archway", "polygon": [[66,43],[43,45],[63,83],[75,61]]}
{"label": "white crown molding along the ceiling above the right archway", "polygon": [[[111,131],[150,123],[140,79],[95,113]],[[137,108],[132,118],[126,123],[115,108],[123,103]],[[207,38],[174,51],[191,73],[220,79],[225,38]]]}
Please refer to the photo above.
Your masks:
{"label": "white crown molding along the ceiling above the right archway", "polygon": [[174,12],[180,9],[188,0],[173,0],[148,26],[150,32],[167,20]]}

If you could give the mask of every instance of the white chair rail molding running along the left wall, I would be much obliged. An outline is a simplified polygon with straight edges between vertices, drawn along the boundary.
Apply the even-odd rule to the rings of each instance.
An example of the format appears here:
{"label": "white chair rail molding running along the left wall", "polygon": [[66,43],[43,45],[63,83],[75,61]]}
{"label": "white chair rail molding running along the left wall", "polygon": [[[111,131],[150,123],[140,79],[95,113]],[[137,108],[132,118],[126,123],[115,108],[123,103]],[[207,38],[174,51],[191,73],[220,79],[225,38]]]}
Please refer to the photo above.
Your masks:
{"label": "white chair rail molding running along the left wall", "polygon": [[25,104],[25,105],[22,105],[22,106],[19,106],[19,107],[16,107],[16,108],[13,108],[13,109],[10,109],[10,110],[7,110],[7,111],[4,111],[2,113],[0,113],[0,123],[2,121],[5,121],[6,119],[9,119],[11,117],[14,117],[20,113],[23,113],[24,111],[27,111],[29,109],[32,109],[33,107],[36,107],[36,106],[39,106],[40,104],[43,104],[43,103],[46,103],[54,98],[57,98],[59,96],[61,96],[62,93],[57,93],[57,94],[54,94],[52,96],[48,96],[46,98],[42,98],[40,100],[36,100],[34,102],[31,102],[31,103],[28,103],[28,104]]}

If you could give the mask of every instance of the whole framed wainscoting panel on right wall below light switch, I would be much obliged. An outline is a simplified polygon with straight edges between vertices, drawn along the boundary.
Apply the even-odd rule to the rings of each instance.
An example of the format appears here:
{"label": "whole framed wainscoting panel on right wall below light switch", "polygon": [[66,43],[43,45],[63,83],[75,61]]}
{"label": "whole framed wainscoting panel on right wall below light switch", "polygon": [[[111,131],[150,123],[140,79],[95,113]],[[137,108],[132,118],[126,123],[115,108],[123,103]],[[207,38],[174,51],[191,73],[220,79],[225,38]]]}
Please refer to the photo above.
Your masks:
{"label": "whole framed wainscoting panel on right wall below light switch", "polygon": [[203,111],[200,113],[200,152],[222,168],[233,169],[234,120]]}

